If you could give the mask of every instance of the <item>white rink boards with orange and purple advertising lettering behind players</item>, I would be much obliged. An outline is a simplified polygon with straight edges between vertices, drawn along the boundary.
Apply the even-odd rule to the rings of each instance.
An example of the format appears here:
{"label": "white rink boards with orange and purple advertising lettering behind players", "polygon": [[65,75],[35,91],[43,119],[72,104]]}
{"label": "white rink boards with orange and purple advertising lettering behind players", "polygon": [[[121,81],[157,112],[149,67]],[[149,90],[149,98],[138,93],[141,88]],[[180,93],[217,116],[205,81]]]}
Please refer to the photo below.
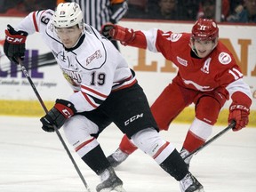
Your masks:
{"label": "white rink boards with orange and purple advertising lettering behind players", "polygon": [[[7,24],[15,27],[21,18],[0,18],[0,100],[36,100],[35,93],[31,90],[26,76],[20,71],[20,67],[13,65],[3,52],[4,29]],[[193,23],[172,23],[172,22],[148,22],[129,21],[119,22],[125,28],[148,30],[160,28],[163,31],[172,30],[175,33],[190,32]],[[234,26],[219,25],[220,41],[226,44],[233,53],[237,64],[244,73],[244,81],[250,85],[252,91],[252,110],[256,109],[256,26]],[[148,96],[149,103],[156,100],[157,96],[164,90],[164,87],[172,82],[178,70],[171,61],[165,60],[163,55],[155,52],[148,52],[134,47],[119,44],[120,52],[135,70],[140,85]],[[27,51],[25,57],[39,58],[38,60],[24,60],[23,64],[28,68],[29,76],[32,78],[36,89],[44,100],[56,100],[56,98],[68,98],[72,93],[68,83],[62,76],[57,64],[44,65],[40,57],[50,52],[39,34],[28,36],[26,43]],[[228,108],[228,103],[225,105]]]}

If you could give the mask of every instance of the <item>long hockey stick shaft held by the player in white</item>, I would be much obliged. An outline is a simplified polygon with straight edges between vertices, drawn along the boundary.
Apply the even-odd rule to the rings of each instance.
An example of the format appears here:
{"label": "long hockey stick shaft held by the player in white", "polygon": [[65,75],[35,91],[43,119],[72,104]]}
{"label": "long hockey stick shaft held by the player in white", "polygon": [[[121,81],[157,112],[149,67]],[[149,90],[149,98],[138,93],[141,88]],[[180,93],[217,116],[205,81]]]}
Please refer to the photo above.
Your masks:
{"label": "long hockey stick shaft held by the player in white", "polygon": [[[36,86],[35,86],[35,84],[33,83],[33,81],[32,81],[32,79],[30,78],[30,76],[28,75],[27,69],[23,66],[23,63],[22,63],[22,61],[20,60],[20,58],[19,58],[18,60],[19,60],[19,64],[20,64],[20,67],[21,67],[21,69],[22,69],[22,72],[23,72],[24,76],[26,76],[26,77],[28,78],[28,82],[29,82],[29,84],[31,85],[33,91],[36,93],[37,99],[39,100],[39,102],[40,102],[42,108],[44,108],[44,112],[47,113],[48,110],[47,110],[47,108],[46,108],[45,105],[44,105],[44,101],[42,100],[40,94],[37,92]],[[58,135],[58,137],[59,137],[59,139],[60,139],[60,142],[62,143],[63,147],[65,148],[66,152],[68,153],[68,156],[69,156],[71,162],[72,162],[73,165],[75,166],[76,172],[78,173],[80,179],[83,181],[84,187],[87,189],[88,192],[91,192],[91,190],[90,190],[90,188],[88,187],[86,181],[84,180],[84,177],[83,177],[82,173],[80,172],[80,170],[79,170],[79,168],[78,168],[78,166],[77,166],[77,164],[76,164],[76,162],[75,162],[73,156],[71,155],[70,151],[68,150],[68,147],[67,147],[65,141],[64,141],[63,138],[61,137],[58,128],[57,128],[55,125],[53,125],[53,127],[54,127],[54,131],[56,132],[56,134]]]}

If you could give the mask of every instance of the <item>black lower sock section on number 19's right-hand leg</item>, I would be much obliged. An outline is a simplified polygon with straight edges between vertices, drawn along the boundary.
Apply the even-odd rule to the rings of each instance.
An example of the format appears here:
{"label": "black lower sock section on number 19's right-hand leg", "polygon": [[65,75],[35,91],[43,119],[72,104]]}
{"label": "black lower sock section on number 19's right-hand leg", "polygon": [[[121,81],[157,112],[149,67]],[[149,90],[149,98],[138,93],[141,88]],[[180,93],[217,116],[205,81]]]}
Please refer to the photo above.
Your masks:
{"label": "black lower sock section on number 19's right-hand leg", "polygon": [[174,149],[160,166],[168,172],[175,180],[182,180],[188,173],[188,168],[179,152]]}

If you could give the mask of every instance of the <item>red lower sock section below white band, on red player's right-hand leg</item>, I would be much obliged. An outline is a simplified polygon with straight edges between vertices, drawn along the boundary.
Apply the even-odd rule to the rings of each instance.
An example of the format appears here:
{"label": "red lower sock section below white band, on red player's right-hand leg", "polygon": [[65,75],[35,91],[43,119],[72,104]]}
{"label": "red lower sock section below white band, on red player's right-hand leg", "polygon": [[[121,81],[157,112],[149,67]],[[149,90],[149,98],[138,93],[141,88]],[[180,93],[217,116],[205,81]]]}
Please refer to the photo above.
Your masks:
{"label": "red lower sock section below white band, on red player's right-hand leg", "polygon": [[196,148],[199,148],[204,144],[205,140],[196,137],[193,132],[188,131],[186,139],[183,143],[183,148],[187,149],[189,153],[193,152],[196,150]]}

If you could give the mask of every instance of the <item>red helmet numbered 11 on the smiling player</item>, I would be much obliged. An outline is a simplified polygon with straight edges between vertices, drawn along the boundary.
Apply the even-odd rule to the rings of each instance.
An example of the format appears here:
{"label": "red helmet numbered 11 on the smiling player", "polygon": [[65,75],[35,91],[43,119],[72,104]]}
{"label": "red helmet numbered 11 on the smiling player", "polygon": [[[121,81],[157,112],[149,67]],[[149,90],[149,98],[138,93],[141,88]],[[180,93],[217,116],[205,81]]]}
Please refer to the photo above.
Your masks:
{"label": "red helmet numbered 11 on the smiling player", "polygon": [[192,28],[192,38],[203,41],[211,41],[219,37],[219,28],[214,20],[196,20]]}

